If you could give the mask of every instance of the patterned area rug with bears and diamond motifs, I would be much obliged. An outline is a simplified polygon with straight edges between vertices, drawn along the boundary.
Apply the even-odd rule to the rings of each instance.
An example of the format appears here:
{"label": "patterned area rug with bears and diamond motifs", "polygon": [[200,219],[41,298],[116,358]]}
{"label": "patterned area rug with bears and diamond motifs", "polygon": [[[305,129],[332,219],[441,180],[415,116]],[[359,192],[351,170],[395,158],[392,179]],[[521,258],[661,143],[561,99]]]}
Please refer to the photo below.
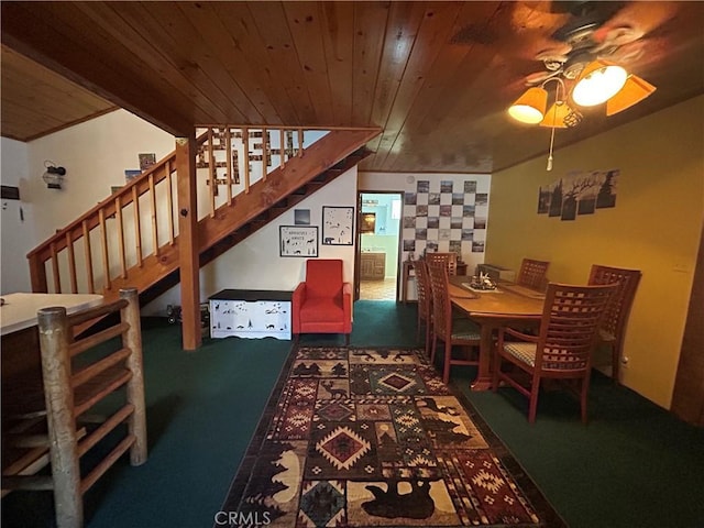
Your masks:
{"label": "patterned area rug with bears and diamond motifs", "polygon": [[565,525],[422,351],[301,346],[216,526]]}

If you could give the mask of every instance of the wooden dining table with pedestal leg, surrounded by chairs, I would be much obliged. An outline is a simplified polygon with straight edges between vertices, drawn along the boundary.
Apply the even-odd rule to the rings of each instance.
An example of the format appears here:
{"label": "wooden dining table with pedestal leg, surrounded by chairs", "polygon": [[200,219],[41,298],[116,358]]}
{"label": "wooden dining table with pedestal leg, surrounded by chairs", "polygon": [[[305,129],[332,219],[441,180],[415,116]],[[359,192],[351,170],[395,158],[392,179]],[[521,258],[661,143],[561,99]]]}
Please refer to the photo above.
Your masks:
{"label": "wooden dining table with pedestal leg, surrounded by chairs", "polygon": [[542,317],[544,293],[515,283],[498,282],[494,289],[474,288],[466,276],[450,277],[452,305],[480,326],[480,359],[472,391],[492,388],[494,336],[501,327],[537,327]]}

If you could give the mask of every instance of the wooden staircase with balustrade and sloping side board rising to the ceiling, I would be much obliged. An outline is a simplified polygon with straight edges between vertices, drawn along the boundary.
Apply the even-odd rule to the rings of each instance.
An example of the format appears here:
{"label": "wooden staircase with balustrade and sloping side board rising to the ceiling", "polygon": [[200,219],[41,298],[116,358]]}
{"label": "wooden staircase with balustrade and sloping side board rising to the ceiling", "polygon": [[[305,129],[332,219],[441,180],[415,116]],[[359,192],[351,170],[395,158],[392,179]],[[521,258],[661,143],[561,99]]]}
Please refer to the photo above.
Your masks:
{"label": "wooden staircase with balustrade and sloping side board rising to the ceiling", "polygon": [[[266,129],[209,129],[197,139],[198,172],[206,172],[209,194],[209,207],[199,211],[200,266],[356,165],[378,134],[332,130],[306,145],[302,130],[295,131],[297,144],[293,133],[285,139],[279,132],[278,148],[272,145],[275,131]],[[254,145],[251,138],[258,138]],[[245,145],[239,158],[238,140],[239,152]],[[224,161],[217,160],[218,148],[226,151]],[[135,287],[145,304],[176,285],[175,167],[174,152],[30,252],[32,290],[100,293],[113,300],[121,288]]]}

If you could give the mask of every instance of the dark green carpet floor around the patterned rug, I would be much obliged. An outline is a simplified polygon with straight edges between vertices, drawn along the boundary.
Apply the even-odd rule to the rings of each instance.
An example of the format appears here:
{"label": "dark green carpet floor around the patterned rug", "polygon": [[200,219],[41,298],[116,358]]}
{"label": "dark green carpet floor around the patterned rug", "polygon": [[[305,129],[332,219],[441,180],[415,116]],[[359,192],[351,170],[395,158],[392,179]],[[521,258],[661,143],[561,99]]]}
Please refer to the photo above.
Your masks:
{"label": "dark green carpet floor around the patterned rug", "polygon": [[[352,345],[416,344],[413,305],[358,301],[354,314]],[[292,344],[207,339],[183,352],[179,331],[145,323],[150,459],[140,468],[119,462],[88,492],[88,528],[211,527]],[[704,430],[601,375],[586,427],[562,393],[543,394],[529,426],[525,398],[509,388],[469,393],[473,375],[453,369],[453,381],[572,528],[704,527]],[[2,499],[3,527],[52,526],[52,517],[51,493]]]}

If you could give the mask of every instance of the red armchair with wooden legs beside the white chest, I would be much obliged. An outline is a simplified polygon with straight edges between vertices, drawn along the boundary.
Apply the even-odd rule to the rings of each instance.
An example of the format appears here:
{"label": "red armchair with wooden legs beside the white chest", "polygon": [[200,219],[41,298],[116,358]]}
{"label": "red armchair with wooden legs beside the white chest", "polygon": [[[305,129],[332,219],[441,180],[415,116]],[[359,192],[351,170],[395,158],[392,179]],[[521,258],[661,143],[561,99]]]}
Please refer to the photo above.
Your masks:
{"label": "red armchair with wooden legs beside the white chest", "polygon": [[352,333],[352,285],[343,282],[342,261],[311,258],[306,279],[292,299],[294,339],[301,333]]}

